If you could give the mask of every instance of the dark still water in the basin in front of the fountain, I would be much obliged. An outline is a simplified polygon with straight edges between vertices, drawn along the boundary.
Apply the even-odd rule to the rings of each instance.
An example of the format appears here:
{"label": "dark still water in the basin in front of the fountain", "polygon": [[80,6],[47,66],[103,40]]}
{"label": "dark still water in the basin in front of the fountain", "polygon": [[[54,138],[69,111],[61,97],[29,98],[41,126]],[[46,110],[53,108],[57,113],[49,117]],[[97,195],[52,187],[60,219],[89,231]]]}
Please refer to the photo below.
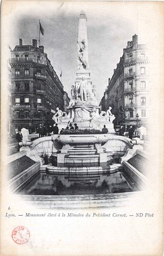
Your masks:
{"label": "dark still water in the basin in front of the fountain", "polygon": [[134,191],[123,172],[93,176],[54,176],[40,172],[24,185],[22,195],[94,195]]}

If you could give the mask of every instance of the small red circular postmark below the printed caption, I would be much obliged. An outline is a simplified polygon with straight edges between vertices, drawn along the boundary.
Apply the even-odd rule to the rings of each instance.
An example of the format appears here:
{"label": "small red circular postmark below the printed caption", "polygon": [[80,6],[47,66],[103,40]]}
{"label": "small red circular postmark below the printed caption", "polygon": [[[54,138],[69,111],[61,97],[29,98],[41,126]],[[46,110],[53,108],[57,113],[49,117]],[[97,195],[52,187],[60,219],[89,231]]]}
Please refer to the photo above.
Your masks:
{"label": "small red circular postmark below the printed caption", "polygon": [[25,228],[23,226],[18,226],[14,228],[14,230],[12,231],[12,240],[15,243],[24,244],[24,243],[27,243],[29,239],[30,239],[30,232],[28,228]]}

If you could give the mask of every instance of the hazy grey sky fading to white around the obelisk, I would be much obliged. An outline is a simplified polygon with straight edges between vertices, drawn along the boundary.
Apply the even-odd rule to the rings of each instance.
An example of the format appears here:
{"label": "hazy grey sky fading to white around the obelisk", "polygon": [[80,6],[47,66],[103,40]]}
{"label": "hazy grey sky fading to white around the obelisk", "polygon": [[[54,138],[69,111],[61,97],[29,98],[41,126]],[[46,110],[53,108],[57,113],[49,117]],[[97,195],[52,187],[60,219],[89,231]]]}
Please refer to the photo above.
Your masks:
{"label": "hazy grey sky fading to white around the obelisk", "polygon": [[[62,84],[70,96],[77,70],[77,35],[79,14],[87,16],[89,66],[92,84],[96,85],[96,98],[100,102],[108,86],[108,78],[119,63],[127,41],[138,34],[138,43],[147,44],[153,16],[152,5],[140,2],[110,1],[20,1],[15,2],[7,18],[5,31],[11,49],[19,44],[31,44],[39,39],[39,20],[45,34],[41,45],[45,47],[58,77],[62,70]],[[144,6],[145,5],[145,6]]]}

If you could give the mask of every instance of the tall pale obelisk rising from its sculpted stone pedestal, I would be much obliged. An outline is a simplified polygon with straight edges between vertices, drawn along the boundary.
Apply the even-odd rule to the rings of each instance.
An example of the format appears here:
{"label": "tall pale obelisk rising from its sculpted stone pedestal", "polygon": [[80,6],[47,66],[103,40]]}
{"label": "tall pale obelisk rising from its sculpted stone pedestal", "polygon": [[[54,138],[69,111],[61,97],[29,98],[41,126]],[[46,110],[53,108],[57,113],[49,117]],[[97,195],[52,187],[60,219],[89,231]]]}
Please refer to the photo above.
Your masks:
{"label": "tall pale obelisk rising from its sculpted stone pedestal", "polygon": [[102,129],[104,124],[107,123],[108,128],[113,130],[113,125],[109,127],[112,123],[110,119],[106,121],[106,116],[99,115],[100,107],[98,107],[95,97],[95,85],[92,85],[89,69],[87,17],[83,11],[79,15],[77,71],[71,94],[72,99],[70,100],[70,106],[68,106],[70,122],[77,123],[80,129]]}

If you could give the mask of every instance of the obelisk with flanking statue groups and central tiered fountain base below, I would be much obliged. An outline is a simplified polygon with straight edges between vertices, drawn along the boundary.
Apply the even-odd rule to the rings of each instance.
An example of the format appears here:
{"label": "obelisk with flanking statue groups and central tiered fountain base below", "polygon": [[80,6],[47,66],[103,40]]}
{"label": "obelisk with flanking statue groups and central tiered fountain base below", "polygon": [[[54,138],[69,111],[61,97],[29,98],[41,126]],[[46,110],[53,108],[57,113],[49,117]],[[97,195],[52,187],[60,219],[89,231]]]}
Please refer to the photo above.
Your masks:
{"label": "obelisk with flanking statue groups and central tiered fountain base below", "polygon": [[[79,35],[77,41],[77,72],[75,85],[72,85],[72,99],[68,106],[68,115],[62,117],[61,110],[57,110],[53,119],[58,123],[60,129],[66,128],[69,123],[77,123],[81,133],[76,135],[59,135],[53,139],[62,144],[58,154],[52,154],[54,168],[48,166],[47,170],[52,172],[56,168],[67,168],[76,172],[94,172],[101,168],[109,169],[107,153],[102,144],[109,140],[109,135],[104,134],[83,134],[83,129],[102,130],[104,124],[108,131],[115,133],[111,108],[106,113],[100,113],[96,100],[96,89],[92,85],[91,72],[89,69],[88,40],[87,40],[87,17],[85,13],[79,15]],[[58,119],[57,119],[58,118]],[[87,168],[87,171],[86,171]],[[61,170],[60,170],[61,171]],[[64,170],[65,172],[65,170]]]}

